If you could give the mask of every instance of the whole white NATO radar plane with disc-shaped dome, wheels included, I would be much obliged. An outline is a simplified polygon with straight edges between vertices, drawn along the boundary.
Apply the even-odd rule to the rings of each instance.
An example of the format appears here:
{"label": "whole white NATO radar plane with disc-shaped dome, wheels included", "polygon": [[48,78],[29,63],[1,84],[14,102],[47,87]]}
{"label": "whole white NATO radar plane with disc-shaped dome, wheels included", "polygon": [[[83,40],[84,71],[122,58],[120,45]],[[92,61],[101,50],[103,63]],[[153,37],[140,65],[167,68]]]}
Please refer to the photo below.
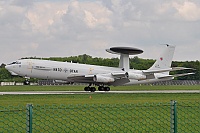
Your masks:
{"label": "whole white NATO radar plane with disc-shaped dome, wheels included", "polygon": [[177,76],[190,75],[184,73],[170,75],[170,71],[189,68],[171,67],[175,46],[166,44],[166,49],[148,70],[129,68],[129,55],[143,51],[131,47],[112,47],[107,52],[120,55],[119,67],[105,67],[70,62],[58,62],[38,59],[21,59],[6,65],[12,74],[39,79],[53,79],[66,83],[88,83],[85,91],[109,91],[109,86],[152,83],[174,79]]}

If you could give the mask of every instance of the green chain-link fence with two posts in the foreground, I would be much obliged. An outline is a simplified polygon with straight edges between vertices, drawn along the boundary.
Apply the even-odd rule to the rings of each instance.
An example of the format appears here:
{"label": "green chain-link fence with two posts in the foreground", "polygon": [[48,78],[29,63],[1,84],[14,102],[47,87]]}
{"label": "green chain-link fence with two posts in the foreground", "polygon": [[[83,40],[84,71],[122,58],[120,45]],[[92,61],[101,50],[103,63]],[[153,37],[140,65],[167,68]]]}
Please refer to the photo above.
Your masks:
{"label": "green chain-link fence with two posts in the foreground", "polygon": [[0,107],[0,132],[199,133],[200,101]]}

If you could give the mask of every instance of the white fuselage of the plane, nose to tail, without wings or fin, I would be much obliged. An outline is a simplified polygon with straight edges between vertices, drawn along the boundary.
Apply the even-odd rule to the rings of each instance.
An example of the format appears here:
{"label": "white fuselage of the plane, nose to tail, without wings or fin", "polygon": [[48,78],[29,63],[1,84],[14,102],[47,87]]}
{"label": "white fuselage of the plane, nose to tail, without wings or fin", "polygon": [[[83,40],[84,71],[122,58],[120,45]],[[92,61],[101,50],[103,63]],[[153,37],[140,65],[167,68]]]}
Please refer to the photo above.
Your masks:
{"label": "white fuselage of the plane, nose to tail, without wings or fin", "polygon": [[[87,65],[79,63],[58,62],[49,60],[37,60],[37,59],[23,59],[18,60],[15,63],[6,66],[12,73],[23,77],[32,77],[39,79],[53,79],[69,81],[69,77],[81,76],[81,75],[97,75],[97,74],[109,74],[109,73],[123,73],[121,68]],[[142,70],[129,69],[129,72],[134,74],[142,74]],[[146,80],[129,79],[130,82],[125,85],[151,83],[156,81],[171,80],[172,78],[158,79],[157,77],[162,73],[155,73],[154,78]],[[71,82],[71,81],[69,81]],[[77,81],[84,82],[84,81]],[[91,81],[93,83],[94,81]],[[85,83],[90,83],[86,81]],[[112,84],[111,84],[112,85]]]}

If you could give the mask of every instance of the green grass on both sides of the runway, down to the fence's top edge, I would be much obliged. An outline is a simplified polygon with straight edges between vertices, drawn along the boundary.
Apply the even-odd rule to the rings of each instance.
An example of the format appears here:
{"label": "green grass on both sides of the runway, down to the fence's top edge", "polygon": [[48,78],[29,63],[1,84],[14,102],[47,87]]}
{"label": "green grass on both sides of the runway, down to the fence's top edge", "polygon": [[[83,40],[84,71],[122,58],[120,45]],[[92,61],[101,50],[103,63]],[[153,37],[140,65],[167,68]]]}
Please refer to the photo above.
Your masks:
{"label": "green grass on both sides of the runway, down to the fence's top edge", "polygon": [[[2,86],[0,91],[81,90],[83,86]],[[200,90],[200,86],[122,86],[112,90]],[[126,104],[146,102],[199,101],[200,94],[75,94],[1,95],[0,106],[32,104]]]}

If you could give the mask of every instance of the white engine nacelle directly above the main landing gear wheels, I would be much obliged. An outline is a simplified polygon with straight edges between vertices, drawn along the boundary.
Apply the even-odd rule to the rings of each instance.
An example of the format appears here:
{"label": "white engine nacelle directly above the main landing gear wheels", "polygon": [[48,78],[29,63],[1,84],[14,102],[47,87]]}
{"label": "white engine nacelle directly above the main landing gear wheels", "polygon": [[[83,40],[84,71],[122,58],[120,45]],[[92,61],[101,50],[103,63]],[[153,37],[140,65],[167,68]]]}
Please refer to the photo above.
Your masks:
{"label": "white engine nacelle directly above the main landing gear wheels", "polygon": [[115,81],[114,78],[109,77],[108,75],[95,75],[93,80],[99,83],[111,83]]}

